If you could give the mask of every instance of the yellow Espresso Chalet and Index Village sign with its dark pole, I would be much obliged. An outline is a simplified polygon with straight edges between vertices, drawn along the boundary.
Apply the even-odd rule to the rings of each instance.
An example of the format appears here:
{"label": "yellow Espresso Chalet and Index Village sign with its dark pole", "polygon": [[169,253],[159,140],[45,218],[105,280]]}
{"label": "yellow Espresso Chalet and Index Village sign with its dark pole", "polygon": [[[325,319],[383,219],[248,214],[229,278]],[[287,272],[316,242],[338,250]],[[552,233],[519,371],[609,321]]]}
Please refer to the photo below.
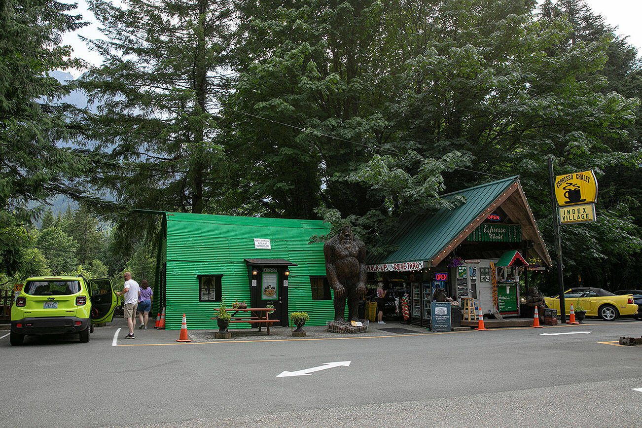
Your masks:
{"label": "yellow Espresso Chalet and Index Village sign with its dark pole", "polygon": [[551,183],[551,205],[553,205],[553,233],[557,250],[557,280],[559,282],[560,318],[566,322],[564,304],[564,265],[562,264],[562,243],[559,225],[586,223],[595,220],[595,202],[598,198],[598,182],[593,170],[555,176],[553,180],[553,158],[548,158],[548,173]]}

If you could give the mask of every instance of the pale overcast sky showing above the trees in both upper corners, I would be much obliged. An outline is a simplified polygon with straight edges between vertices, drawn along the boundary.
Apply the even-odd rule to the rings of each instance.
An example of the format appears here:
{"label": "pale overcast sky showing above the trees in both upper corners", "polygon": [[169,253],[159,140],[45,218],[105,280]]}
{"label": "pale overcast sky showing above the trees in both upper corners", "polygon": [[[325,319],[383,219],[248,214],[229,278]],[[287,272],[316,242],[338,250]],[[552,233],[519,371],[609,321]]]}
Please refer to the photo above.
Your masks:
{"label": "pale overcast sky showing above the trees in both upper corners", "polygon": [[[74,56],[83,58],[91,65],[100,65],[100,55],[89,51],[78,35],[89,39],[103,39],[103,35],[98,30],[96,19],[89,12],[86,1],[76,1],[78,1],[77,13],[83,15],[84,20],[91,22],[91,24],[75,33],[65,34],[63,42],[73,47]],[[541,2],[541,0],[539,1]],[[114,3],[120,3],[120,1],[116,0]],[[617,27],[618,35],[628,36],[629,44],[637,47],[638,52],[642,54],[642,26],[639,24],[642,16],[642,0],[587,0],[586,3],[591,6],[593,12],[602,15],[607,24]],[[77,77],[81,72],[74,70],[70,73]]]}

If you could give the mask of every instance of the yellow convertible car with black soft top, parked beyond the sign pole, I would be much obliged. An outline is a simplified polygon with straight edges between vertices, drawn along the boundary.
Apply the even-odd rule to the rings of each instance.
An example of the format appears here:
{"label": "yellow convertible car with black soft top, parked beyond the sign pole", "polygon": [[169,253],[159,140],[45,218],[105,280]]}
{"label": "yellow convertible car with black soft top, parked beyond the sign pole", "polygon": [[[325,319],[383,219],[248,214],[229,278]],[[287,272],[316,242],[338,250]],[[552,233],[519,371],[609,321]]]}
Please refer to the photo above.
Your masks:
{"label": "yellow convertible car with black soft top, parked beyond the sign pole", "polygon": [[[546,307],[557,309],[557,314],[560,313],[559,296],[545,297],[544,300]],[[633,303],[632,296],[614,295],[602,288],[578,287],[567,290],[564,293],[567,315],[571,313],[571,304],[575,311],[581,308],[587,315],[599,316],[605,321],[616,320],[620,316],[635,316],[638,313],[638,305]]]}

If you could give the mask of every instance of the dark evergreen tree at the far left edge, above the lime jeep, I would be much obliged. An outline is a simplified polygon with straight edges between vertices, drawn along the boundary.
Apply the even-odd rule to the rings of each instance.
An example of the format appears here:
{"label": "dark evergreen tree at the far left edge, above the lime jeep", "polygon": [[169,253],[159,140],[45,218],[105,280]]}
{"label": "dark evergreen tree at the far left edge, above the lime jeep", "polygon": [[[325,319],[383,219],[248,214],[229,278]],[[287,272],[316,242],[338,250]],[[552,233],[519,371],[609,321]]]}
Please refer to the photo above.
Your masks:
{"label": "dark evergreen tree at the far left edge, above the lime jeep", "polygon": [[60,46],[62,33],[84,25],[69,14],[74,8],[55,0],[0,2],[0,272],[8,275],[28,256],[21,230],[37,216],[28,202],[86,196],[74,178],[89,169],[87,157],[56,145],[73,135],[66,107],[53,103],[69,88],[48,74],[79,65]]}

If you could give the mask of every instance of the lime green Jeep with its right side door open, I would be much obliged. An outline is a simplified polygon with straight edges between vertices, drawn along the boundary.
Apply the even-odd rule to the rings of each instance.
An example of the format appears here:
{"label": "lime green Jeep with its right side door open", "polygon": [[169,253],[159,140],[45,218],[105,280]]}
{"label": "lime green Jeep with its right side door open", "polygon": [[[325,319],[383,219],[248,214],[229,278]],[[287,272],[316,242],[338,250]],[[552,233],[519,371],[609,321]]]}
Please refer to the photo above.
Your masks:
{"label": "lime green Jeep with its right side door open", "polygon": [[110,322],[117,304],[109,278],[28,278],[11,308],[11,344],[22,345],[26,334],[64,333],[89,342],[94,323]]}

